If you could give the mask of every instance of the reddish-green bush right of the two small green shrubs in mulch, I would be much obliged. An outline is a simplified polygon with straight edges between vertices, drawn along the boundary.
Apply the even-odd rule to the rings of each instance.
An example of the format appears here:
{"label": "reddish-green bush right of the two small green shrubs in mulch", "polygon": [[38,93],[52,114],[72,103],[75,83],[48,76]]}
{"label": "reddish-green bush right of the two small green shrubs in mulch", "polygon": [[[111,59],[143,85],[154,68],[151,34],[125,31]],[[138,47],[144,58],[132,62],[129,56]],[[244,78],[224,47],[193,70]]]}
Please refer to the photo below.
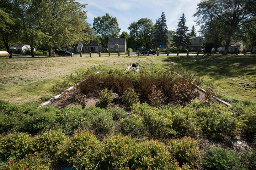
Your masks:
{"label": "reddish-green bush right of the two small green shrubs in mulch", "polygon": [[161,89],[156,90],[152,87],[151,94],[149,94],[149,101],[153,107],[161,107],[165,103],[165,96]]}

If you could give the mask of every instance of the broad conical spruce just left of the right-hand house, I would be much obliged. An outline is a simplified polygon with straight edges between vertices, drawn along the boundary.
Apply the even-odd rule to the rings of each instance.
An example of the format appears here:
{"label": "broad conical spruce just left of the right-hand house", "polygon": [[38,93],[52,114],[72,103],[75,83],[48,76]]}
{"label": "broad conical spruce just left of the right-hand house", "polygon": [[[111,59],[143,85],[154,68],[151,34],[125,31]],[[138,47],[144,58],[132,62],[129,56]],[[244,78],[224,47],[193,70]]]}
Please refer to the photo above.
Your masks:
{"label": "broad conical spruce just left of the right-hand house", "polygon": [[186,19],[184,13],[179,19],[178,27],[175,35],[173,36],[173,45],[178,49],[186,48],[190,44],[189,36],[186,34],[188,27],[186,26]]}

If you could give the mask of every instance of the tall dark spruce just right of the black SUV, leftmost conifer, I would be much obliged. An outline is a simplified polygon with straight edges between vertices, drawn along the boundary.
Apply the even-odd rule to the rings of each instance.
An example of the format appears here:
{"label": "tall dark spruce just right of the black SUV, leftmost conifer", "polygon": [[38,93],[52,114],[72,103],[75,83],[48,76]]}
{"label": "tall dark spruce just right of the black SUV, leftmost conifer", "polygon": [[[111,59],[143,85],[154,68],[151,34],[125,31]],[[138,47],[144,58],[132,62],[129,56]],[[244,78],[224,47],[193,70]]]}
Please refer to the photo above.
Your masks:
{"label": "tall dark spruce just right of the black SUV, leftmost conifer", "polygon": [[168,38],[166,17],[164,12],[162,12],[161,17],[156,19],[156,24],[154,25],[154,47],[157,48],[159,45],[165,47],[168,44]]}

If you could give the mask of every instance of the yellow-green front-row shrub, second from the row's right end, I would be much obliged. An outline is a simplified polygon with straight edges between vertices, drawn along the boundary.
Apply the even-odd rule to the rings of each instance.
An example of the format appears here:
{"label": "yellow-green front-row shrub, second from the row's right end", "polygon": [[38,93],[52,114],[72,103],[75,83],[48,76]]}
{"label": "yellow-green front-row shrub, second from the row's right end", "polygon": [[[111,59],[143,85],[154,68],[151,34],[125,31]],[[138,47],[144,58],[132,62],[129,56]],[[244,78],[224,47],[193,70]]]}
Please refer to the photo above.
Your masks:
{"label": "yellow-green front-row shrub, second from the row's right end", "polygon": [[[162,170],[171,162],[164,143],[157,140],[146,140],[135,145],[132,167],[135,169]],[[166,168],[167,169],[167,168]]]}

